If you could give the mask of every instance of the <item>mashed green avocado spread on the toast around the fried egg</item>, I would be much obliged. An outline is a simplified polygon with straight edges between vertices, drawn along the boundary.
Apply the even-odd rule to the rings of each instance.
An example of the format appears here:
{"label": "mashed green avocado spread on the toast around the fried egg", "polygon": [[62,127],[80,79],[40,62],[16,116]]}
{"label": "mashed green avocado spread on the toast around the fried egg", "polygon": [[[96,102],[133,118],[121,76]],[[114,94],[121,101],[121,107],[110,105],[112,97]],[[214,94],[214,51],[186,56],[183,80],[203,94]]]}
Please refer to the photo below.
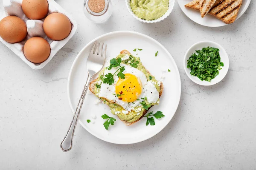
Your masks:
{"label": "mashed green avocado spread on the toast around the fried egg", "polygon": [[[119,54],[116,59],[118,58],[123,58],[125,57],[125,54]],[[134,56],[133,56],[134,57]],[[137,59],[137,61],[139,61],[138,67],[137,69],[140,70],[141,72],[143,72],[145,74],[145,76],[147,77],[148,81],[154,82],[154,85],[157,89],[158,92],[160,92],[160,87],[157,85],[158,81],[155,79],[154,76],[152,76],[151,74],[149,74],[147,72],[147,70],[145,69],[145,67],[142,65],[142,63],[140,62],[140,58],[139,57],[134,57]],[[128,64],[129,59],[122,61],[122,63],[124,64]],[[99,73],[99,77],[97,78],[96,81],[99,81],[103,78],[104,75],[104,71],[105,69],[103,69],[100,73]],[[100,85],[100,84],[99,84]],[[99,87],[99,86],[98,86]],[[94,93],[96,94],[96,96],[98,96],[99,94],[99,89],[97,87],[94,88]],[[109,106],[109,108],[111,109],[111,113],[112,114],[116,114],[121,120],[127,121],[127,122],[135,122],[136,120],[138,120],[142,115],[143,112],[145,111],[145,109],[143,108],[142,105],[138,105],[137,107],[134,108],[134,110],[131,110],[130,113],[128,114],[124,114],[122,113],[122,111],[125,111],[122,106],[117,105],[115,103],[111,103],[108,102],[106,99],[102,99],[102,101],[107,104]],[[157,101],[157,103],[149,103],[148,101],[145,100],[145,103],[148,105],[157,105],[159,103],[159,99]]]}

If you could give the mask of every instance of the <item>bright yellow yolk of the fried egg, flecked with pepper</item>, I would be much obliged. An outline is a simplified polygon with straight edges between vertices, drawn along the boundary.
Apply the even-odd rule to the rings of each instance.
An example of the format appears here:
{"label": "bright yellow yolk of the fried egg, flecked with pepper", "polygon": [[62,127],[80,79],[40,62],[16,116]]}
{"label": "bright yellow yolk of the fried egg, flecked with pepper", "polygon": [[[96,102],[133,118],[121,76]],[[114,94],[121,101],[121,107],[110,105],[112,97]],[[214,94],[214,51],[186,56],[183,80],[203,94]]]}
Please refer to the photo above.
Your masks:
{"label": "bright yellow yolk of the fried egg, flecked with pepper", "polygon": [[124,102],[134,102],[142,91],[140,79],[133,74],[125,74],[125,79],[116,82],[116,95]]}

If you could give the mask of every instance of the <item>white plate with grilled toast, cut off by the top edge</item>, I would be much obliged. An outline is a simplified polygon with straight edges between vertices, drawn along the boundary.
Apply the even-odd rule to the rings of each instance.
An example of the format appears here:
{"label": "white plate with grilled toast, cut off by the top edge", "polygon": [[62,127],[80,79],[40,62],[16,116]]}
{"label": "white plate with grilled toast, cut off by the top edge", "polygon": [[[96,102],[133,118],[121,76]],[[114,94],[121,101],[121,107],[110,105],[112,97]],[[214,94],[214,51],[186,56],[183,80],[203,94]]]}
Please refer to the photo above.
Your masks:
{"label": "white plate with grilled toast, cut off by the top edge", "polygon": [[216,0],[204,18],[200,14],[200,0],[178,0],[178,4],[184,14],[195,23],[208,27],[220,27],[238,20],[248,8],[250,0]]}

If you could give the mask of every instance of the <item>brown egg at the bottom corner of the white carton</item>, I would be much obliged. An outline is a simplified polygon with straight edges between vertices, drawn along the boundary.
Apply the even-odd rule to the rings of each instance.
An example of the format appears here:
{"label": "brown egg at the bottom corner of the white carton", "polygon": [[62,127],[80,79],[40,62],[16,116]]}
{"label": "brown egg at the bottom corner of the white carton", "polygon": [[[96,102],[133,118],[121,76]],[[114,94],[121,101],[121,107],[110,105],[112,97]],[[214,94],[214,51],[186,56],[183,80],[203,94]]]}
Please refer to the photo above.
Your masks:
{"label": "brown egg at the bottom corner of the white carton", "polygon": [[47,40],[41,37],[32,37],[24,45],[25,57],[34,63],[44,62],[51,53],[51,48]]}

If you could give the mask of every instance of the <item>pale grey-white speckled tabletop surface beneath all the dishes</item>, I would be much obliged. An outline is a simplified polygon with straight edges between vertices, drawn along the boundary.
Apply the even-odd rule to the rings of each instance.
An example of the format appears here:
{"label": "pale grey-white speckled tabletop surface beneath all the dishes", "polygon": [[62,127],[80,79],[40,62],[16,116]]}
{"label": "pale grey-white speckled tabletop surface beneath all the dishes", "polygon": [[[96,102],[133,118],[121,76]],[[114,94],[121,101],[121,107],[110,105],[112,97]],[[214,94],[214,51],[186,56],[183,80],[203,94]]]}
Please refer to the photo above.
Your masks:
{"label": "pale grey-white speckled tabletop surface beneath all the dishes", "polygon": [[[115,0],[105,24],[89,22],[83,0],[56,0],[78,22],[75,36],[41,70],[32,70],[0,44],[1,170],[253,170],[256,168],[256,3],[235,23],[207,28],[193,23],[177,2],[163,22],[144,24]],[[72,115],[67,77],[81,48],[99,35],[137,31],[162,43],[180,71],[182,94],[172,121],[147,141],[130,145],[103,142],[80,125],[73,149],[59,144]],[[196,85],[183,70],[183,56],[195,42],[220,43],[230,57],[225,79]]]}

